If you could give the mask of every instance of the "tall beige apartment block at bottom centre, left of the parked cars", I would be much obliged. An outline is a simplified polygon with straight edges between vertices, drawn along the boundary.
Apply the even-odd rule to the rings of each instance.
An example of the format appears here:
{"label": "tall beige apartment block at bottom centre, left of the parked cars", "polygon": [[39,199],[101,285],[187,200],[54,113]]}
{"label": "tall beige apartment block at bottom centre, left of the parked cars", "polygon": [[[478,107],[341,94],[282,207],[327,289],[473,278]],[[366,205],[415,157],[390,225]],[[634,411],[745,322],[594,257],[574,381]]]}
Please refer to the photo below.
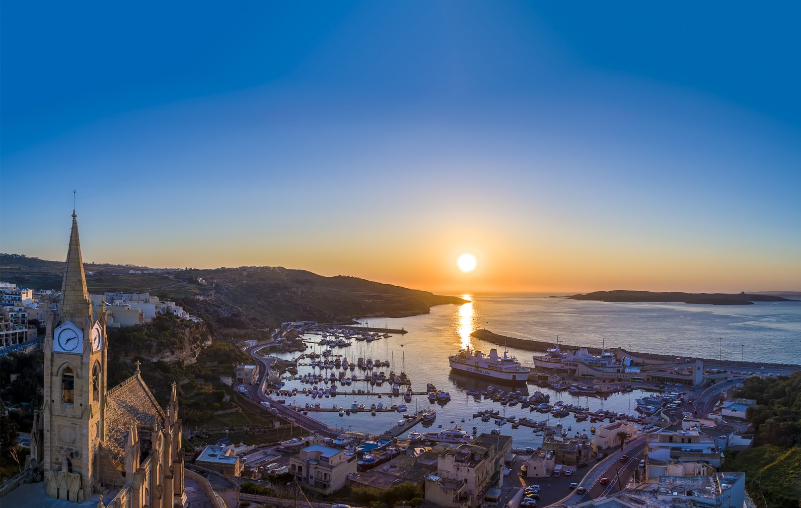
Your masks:
{"label": "tall beige apartment block at bottom centre, left of the parked cars", "polygon": [[512,438],[481,434],[471,444],[450,446],[437,458],[437,474],[425,481],[425,500],[449,508],[475,508],[487,491],[503,486]]}

